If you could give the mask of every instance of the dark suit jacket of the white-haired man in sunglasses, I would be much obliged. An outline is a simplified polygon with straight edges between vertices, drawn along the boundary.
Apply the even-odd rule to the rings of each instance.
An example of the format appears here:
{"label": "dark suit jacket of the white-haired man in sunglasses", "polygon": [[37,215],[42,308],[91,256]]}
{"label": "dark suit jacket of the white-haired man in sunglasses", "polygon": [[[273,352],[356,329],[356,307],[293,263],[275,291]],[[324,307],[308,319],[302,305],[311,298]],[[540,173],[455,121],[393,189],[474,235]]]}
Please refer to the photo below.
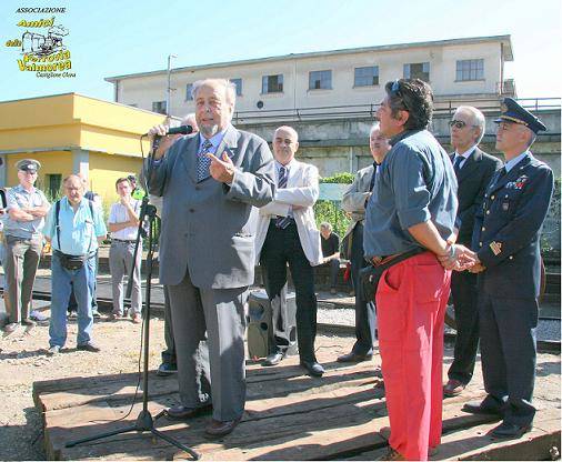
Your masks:
{"label": "dark suit jacket of the white-haired man in sunglasses", "polygon": [[[451,161],[454,154],[451,155]],[[493,155],[486,154],[479,148],[466,159],[460,170],[456,181],[459,183],[459,211],[461,220],[458,242],[470,245],[474,230],[474,213],[482,207],[484,192],[494,172],[502,163]]]}

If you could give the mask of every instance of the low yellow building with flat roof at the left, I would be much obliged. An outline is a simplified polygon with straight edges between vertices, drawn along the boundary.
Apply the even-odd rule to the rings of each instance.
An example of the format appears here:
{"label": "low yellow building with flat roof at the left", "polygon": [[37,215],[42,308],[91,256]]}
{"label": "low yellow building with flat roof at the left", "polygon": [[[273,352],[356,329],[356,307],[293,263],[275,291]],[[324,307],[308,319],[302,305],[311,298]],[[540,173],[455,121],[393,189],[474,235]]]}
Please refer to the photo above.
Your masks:
{"label": "low yellow building with flat roof at the left", "polygon": [[38,187],[60,194],[62,179],[82,173],[106,203],[116,198],[119,177],[138,174],[140,137],[162,123],[161,114],[77,93],[0,102],[0,187],[18,184],[16,163],[41,162]]}

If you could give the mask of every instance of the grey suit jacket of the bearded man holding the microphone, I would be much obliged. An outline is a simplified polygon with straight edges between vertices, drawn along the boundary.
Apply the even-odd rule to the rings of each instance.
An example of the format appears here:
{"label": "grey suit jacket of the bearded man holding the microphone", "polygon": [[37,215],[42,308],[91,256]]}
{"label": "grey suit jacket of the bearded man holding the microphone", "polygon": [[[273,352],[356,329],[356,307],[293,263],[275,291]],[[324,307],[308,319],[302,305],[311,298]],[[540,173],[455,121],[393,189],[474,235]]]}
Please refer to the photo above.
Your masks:
{"label": "grey suit jacket of the bearded man holding the microphone", "polygon": [[198,182],[199,140],[177,141],[145,171],[149,192],[163,197],[160,282],[179,284],[189,271],[201,289],[250,285],[255,260],[251,212],[273,198],[273,157],[264,140],[230,125],[215,155],[227,152],[234,163],[232,184],[212,177]]}

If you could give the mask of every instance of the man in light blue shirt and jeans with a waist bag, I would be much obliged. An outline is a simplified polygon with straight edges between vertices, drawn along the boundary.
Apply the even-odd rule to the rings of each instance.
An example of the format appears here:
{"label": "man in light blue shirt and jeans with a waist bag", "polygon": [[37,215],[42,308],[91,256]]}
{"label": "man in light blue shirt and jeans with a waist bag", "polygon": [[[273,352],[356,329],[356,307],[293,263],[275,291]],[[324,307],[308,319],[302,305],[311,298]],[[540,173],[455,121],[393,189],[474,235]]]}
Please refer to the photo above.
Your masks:
{"label": "man in light blue shirt and jeans with a waist bag", "polygon": [[67,307],[72,287],[78,301],[77,349],[98,352],[92,342],[92,278],[96,278],[96,251],[106,239],[101,209],[84,199],[84,184],[71,174],[63,181],[66,197],[56,203],[44,227],[51,242],[51,321],[49,353],[57,354],[67,341]]}

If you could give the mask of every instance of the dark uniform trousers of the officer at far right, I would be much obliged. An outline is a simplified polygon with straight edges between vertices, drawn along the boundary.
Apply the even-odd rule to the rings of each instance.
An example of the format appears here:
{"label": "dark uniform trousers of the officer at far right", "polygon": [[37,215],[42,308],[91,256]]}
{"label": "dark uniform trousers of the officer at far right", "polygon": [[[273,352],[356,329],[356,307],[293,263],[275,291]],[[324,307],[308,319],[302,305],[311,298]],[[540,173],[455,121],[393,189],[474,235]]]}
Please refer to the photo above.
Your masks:
{"label": "dark uniform trousers of the officer at far right", "polygon": [[504,403],[504,422],[533,421],[536,368],[536,299],[509,299],[479,293],[480,350],[484,389]]}

